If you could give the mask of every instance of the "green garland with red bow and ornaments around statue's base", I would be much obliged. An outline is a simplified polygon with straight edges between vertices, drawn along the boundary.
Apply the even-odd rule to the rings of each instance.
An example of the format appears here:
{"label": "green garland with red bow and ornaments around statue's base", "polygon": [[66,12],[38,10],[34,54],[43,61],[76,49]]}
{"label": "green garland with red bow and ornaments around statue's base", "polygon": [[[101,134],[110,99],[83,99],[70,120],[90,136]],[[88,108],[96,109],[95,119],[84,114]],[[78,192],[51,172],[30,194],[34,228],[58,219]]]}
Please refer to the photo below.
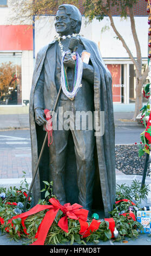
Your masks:
{"label": "green garland with red bow and ornaments around statue's base", "polygon": [[[99,215],[94,213],[92,218],[88,218],[88,210],[79,204],[61,205],[52,194],[52,182],[43,182],[45,199],[39,200],[33,208],[30,208],[29,202],[27,211],[23,213],[24,188],[0,188],[1,230],[15,241],[27,237],[30,245],[73,244],[74,241],[86,245],[87,242],[97,243],[99,240],[121,241],[125,236],[137,238],[143,231],[142,224],[136,221],[137,210],[141,209],[132,200],[122,198],[121,191],[119,197],[117,190],[119,200],[115,202],[110,218],[96,220]],[[136,191],[136,186],[134,189]],[[131,193],[133,191],[128,194]],[[145,196],[142,192],[141,195]]]}

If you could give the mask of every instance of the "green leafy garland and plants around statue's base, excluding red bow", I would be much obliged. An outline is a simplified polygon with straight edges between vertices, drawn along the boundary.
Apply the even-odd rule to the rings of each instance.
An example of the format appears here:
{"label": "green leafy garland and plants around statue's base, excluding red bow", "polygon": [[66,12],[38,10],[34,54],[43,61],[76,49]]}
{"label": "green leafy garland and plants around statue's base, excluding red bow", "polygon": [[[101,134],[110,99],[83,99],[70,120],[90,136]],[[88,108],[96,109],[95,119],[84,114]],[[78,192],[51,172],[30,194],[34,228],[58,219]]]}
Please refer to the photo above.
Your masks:
{"label": "green leafy garland and plants around statue's base, excluding red bow", "polygon": [[[52,182],[50,182],[49,184],[49,182],[43,181],[43,183],[44,188],[42,191],[45,193],[45,199],[40,200],[38,203],[50,204],[49,198],[51,196],[54,196],[52,194]],[[21,188],[23,190],[22,186]],[[5,193],[7,193],[6,188],[0,188],[0,191],[5,191]],[[9,199],[12,199],[11,197],[15,197],[17,202],[18,194],[16,192],[16,188],[10,188],[9,192]],[[125,184],[122,184],[121,186],[117,185],[116,199],[121,200],[127,198],[129,200],[132,200],[133,198],[135,198],[135,200],[138,200],[145,198],[147,193],[147,186],[144,186],[141,189],[140,182],[134,180],[131,186],[126,186]],[[19,198],[19,200],[21,200],[21,198]],[[37,214],[30,215],[25,219],[24,224],[28,233],[27,235],[24,233],[21,218],[16,218],[15,220],[12,220],[12,223],[8,222],[12,218],[12,216],[15,215],[15,207],[16,206],[2,203],[0,207],[0,217],[4,218],[5,223],[1,225],[1,230],[3,233],[9,231],[9,236],[15,241],[18,241],[22,237],[28,237],[27,243],[31,244],[32,242],[36,241],[37,238],[35,238],[35,235],[38,231],[38,228],[40,227],[40,224],[42,223],[46,212],[49,210],[37,212]],[[109,212],[109,214],[114,218],[116,229],[119,231],[119,235],[116,239],[113,239],[113,241],[121,241],[125,239],[126,236],[129,238],[137,238],[137,236],[139,235],[139,231],[143,231],[141,223],[134,221],[128,216],[122,215],[123,212],[129,214],[131,210],[136,216],[137,208],[133,206],[131,202],[122,201],[119,204],[114,205],[114,210]],[[78,220],[72,220],[68,218],[68,233],[58,227],[58,221],[63,216],[63,212],[59,210],[57,212],[54,222],[52,223],[48,231],[44,243],[45,245],[57,245],[61,243],[68,243],[70,245],[73,245],[74,242],[78,243],[78,245],[86,245],[88,242],[93,242],[94,244],[97,244],[100,240],[107,241],[111,239],[111,231],[109,229],[109,222],[107,221],[100,220],[99,229],[95,230],[95,232],[84,238],[82,235],[79,234],[81,226]],[[88,226],[91,224],[91,221],[91,219],[88,220]]]}

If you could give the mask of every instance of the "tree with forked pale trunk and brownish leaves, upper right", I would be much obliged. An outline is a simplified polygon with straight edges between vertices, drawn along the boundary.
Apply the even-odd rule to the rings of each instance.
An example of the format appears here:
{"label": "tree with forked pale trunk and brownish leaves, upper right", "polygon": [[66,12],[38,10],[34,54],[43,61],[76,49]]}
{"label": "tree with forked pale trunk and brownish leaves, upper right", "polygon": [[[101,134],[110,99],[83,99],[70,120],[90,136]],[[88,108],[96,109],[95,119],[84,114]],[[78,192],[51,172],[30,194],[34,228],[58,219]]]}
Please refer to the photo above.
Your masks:
{"label": "tree with forked pale trunk and brownish leaves, upper right", "polygon": [[[137,0],[84,0],[85,16],[88,17],[89,22],[94,18],[97,20],[103,20],[104,16],[108,16],[110,20],[110,26],[113,28],[117,38],[122,42],[123,47],[126,49],[129,58],[132,60],[136,69],[136,101],[135,101],[135,113],[134,120],[139,114],[142,108],[142,86],[148,76],[148,66],[146,70],[142,69],[142,56],[140,42],[137,36],[135,19],[134,19],[134,7],[138,2]],[[130,18],[131,31],[136,47],[136,58],[133,56],[132,51],[127,45],[126,40],[115,26],[113,20],[113,8],[116,8],[121,17]]]}

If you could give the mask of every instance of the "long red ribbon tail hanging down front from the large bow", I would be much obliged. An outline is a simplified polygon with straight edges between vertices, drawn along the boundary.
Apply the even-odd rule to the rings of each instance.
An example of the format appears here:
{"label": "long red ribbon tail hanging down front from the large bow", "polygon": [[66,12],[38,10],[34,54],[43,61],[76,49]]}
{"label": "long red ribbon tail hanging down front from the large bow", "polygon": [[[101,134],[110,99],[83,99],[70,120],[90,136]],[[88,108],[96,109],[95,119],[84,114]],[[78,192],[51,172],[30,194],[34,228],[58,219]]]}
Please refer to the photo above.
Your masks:
{"label": "long red ribbon tail hanging down front from the large bow", "polygon": [[57,209],[52,208],[48,212],[46,212],[40,227],[40,231],[38,233],[38,238],[31,245],[44,245],[45,238],[48,234],[48,231],[49,231],[49,228],[51,227],[52,222],[55,220],[58,210],[59,208]]}

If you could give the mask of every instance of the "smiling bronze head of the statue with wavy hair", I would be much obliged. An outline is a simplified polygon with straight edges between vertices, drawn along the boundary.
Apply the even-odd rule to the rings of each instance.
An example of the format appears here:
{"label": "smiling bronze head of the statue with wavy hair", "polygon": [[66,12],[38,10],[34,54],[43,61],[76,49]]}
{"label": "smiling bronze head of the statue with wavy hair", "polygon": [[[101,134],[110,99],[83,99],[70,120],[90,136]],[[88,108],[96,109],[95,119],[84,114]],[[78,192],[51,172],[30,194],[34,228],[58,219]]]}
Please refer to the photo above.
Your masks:
{"label": "smiling bronze head of the statue with wavy hair", "polygon": [[58,7],[55,20],[56,32],[60,35],[79,33],[82,16],[77,7],[71,4],[62,4]]}

